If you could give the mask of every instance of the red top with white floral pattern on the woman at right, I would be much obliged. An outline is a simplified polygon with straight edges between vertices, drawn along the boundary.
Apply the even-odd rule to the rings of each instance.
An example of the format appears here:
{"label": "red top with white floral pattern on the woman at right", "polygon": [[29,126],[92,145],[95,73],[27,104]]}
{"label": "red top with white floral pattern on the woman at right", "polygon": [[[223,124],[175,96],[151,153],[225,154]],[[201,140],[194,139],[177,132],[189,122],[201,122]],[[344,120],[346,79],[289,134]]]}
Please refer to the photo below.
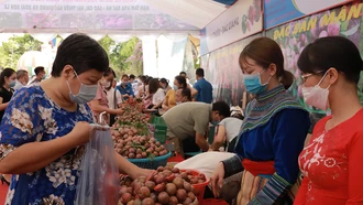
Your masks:
{"label": "red top with white floral pattern on the woman at right", "polygon": [[326,130],[328,116],[314,128],[299,157],[304,180],[294,205],[358,205],[363,202],[363,109]]}

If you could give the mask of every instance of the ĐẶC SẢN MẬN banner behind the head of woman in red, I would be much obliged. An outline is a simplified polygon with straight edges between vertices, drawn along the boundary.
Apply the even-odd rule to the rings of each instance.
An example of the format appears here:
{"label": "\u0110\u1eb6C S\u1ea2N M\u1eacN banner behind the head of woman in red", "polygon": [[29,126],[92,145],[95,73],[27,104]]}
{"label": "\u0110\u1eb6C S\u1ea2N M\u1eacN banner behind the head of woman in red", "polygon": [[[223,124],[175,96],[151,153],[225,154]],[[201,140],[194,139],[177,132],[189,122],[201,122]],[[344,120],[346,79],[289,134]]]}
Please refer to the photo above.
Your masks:
{"label": "\u0110\u1eb6C S\u1ea2N M\u1eacN banner behind the head of woman in red", "polygon": [[[294,95],[299,98],[302,105],[305,102],[300,86],[301,78],[297,67],[299,54],[307,44],[318,37],[341,35],[354,42],[360,47],[361,55],[363,56],[363,47],[360,46],[362,43],[362,6],[363,3],[348,4],[296,22],[290,22],[266,32],[267,37],[275,40],[280,45],[285,56],[285,69],[292,72],[297,80],[297,89],[293,90]],[[359,85],[360,87],[362,87],[361,84]],[[307,105],[305,106],[311,112],[324,112]]]}

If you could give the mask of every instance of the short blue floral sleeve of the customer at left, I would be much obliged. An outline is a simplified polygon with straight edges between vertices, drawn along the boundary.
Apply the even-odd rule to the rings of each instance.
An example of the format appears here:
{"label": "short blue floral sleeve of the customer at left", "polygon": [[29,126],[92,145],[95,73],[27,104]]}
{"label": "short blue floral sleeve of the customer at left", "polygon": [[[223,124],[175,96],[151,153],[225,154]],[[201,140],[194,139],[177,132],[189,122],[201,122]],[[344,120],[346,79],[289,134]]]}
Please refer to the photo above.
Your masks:
{"label": "short blue floral sleeve of the customer at left", "polygon": [[31,90],[20,89],[9,102],[0,126],[0,159],[20,145],[42,138],[44,127],[37,95]]}

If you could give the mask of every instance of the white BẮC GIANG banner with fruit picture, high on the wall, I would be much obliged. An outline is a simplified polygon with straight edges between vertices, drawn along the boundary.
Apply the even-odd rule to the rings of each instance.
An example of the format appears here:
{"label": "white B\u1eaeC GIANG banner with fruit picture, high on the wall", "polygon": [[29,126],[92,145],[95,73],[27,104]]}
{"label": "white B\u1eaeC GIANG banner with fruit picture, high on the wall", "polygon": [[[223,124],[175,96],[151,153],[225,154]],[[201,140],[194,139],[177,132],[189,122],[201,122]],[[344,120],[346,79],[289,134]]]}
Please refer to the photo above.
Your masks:
{"label": "white B\u1eaeC GIANG banner with fruit picture, high on the wall", "polygon": [[201,32],[200,54],[237,42],[262,31],[262,1],[237,1]]}

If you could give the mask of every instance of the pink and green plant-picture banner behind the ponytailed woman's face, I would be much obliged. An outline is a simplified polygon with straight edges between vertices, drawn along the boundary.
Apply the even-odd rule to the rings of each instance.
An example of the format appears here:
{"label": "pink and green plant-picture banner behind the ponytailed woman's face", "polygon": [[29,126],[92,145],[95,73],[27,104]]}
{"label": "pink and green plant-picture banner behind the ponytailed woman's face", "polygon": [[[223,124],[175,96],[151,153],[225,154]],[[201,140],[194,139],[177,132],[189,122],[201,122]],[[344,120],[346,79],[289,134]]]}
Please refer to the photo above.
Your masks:
{"label": "pink and green plant-picture banner behind the ponytailed woman's face", "polygon": [[201,56],[201,67],[206,69],[206,79],[213,86],[216,100],[241,106],[244,86],[239,65],[240,53],[252,40],[261,36],[257,34]]}

